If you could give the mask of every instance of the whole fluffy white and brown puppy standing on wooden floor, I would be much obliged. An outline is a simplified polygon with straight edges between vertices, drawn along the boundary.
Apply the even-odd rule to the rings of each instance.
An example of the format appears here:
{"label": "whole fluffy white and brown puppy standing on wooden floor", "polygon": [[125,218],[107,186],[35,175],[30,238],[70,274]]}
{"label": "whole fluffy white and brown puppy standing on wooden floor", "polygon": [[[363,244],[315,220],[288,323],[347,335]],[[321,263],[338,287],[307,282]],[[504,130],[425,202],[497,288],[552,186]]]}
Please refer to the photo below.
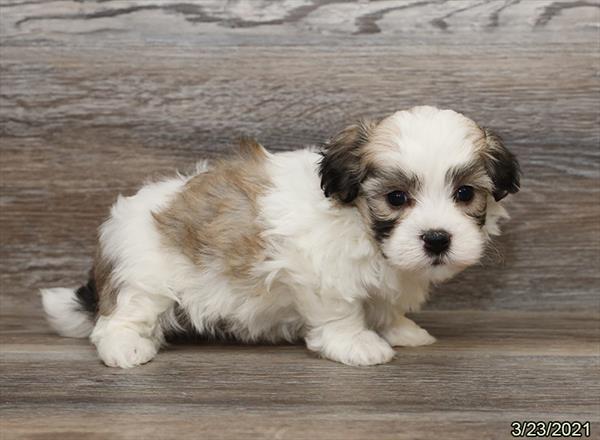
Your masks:
{"label": "whole fluffy white and brown puppy standing on wooden floor", "polygon": [[88,284],[43,290],[43,304],[109,366],[148,362],[182,329],[381,364],[393,346],[434,342],[404,314],[479,261],[518,189],[513,154],[451,110],[361,122],[321,152],[247,141],[119,197]]}

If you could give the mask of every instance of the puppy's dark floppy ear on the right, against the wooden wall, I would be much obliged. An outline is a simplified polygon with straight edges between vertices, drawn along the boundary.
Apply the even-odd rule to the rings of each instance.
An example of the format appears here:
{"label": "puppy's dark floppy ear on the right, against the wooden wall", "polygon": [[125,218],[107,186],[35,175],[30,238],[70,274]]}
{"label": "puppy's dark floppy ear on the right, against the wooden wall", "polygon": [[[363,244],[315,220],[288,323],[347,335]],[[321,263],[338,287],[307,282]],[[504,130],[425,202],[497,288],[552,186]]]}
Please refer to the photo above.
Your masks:
{"label": "puppy's dark floppy ear on the right, against the wooden wall", "polygon": [[485,168],[494,184],[494,199],[502,200],[520,189],[521,168],[514,154],[504,146],[502,138],[483,128]]}

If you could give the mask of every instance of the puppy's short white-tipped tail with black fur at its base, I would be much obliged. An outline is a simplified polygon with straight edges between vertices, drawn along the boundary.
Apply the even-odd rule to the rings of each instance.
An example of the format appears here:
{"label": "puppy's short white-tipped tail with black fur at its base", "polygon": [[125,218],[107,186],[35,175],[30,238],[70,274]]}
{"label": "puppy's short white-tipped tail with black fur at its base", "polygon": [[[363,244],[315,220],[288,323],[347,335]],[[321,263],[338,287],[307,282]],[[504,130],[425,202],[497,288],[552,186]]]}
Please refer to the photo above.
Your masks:
{"label": "puppy's short white-tipped tail with black fur at its base", "polygon": [[79,289],[42,289],[42,304],[50,326],[61,336],[85,338],[92,333],[98,293],[91,279]]}

